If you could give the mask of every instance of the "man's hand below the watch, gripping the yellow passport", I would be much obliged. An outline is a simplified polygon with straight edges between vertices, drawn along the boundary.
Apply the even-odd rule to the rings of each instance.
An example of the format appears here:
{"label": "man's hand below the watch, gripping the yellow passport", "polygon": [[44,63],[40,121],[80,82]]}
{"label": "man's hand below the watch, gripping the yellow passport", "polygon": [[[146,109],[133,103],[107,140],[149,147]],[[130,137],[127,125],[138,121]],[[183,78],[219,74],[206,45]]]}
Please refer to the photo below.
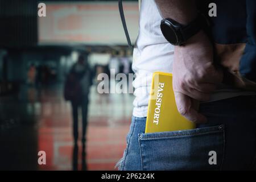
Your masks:
{"label": "man's hand below the watch, gripping the yellow passport", "polygon": [[203,31],[190,38],[185,46],[175,46],[173,87],[177,109],[185,118],[196,123],[207,121],[197,112],[196,102],[209,100],[221,81],[222,72],[213,65],[212,43]]}

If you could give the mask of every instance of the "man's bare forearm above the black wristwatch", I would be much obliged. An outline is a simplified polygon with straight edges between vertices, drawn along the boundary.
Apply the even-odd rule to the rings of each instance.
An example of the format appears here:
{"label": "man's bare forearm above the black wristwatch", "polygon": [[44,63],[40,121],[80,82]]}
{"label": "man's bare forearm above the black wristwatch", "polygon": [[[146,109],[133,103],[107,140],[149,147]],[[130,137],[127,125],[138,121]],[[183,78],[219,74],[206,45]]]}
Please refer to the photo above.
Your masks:
{"label": "man's bare forearm above the black wristwatch", "polygon": [[163,18],[188,24],[197,16],[195,0],[155,0],[155,2]]}

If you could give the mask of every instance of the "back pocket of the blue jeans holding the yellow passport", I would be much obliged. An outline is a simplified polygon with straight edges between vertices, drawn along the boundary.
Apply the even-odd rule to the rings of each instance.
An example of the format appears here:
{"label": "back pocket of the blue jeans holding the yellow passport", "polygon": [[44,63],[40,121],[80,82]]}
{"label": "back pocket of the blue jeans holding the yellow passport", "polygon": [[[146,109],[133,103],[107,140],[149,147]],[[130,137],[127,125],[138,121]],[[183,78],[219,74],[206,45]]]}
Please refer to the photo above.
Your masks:
{"label": "back pocket of the blue jeans holding the yellow passport", "polygon": [[219,170],[224,125],[139,134],[142,170]]}

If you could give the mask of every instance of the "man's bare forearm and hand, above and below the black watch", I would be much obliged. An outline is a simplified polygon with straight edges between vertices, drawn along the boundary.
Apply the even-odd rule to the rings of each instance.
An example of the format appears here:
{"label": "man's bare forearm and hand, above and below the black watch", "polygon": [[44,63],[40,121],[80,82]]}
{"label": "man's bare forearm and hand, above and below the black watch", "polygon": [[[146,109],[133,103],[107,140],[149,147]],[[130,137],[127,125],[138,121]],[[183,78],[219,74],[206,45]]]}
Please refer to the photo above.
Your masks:
{"label": "man's bare forearm and hand, above and below the black watch", "polygon": [[[171,18],[184,26],[198,14],[195,0],[155,0],[163,18]],[[200,31],[185,46],[175,46],[173,86],[177,109],[196,123],[207,119],[197,112],[199,101],[209,100],[222,72],[213,66],[213,47],[207,35]]]}

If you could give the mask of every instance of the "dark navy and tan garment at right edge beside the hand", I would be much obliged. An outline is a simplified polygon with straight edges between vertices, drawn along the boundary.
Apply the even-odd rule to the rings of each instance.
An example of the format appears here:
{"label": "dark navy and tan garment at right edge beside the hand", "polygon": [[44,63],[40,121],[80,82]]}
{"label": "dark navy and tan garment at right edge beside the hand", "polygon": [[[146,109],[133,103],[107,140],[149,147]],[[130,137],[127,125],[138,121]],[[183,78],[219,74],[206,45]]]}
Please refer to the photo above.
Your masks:
{"label": "dark navy and tan garment at right edge beside the hand", "polygon": [[[209,3],[216,3],[216,17],[209,17]],[[224,82],[256,91],[256,1],[198,0],[198,6],[209,17]]]}

